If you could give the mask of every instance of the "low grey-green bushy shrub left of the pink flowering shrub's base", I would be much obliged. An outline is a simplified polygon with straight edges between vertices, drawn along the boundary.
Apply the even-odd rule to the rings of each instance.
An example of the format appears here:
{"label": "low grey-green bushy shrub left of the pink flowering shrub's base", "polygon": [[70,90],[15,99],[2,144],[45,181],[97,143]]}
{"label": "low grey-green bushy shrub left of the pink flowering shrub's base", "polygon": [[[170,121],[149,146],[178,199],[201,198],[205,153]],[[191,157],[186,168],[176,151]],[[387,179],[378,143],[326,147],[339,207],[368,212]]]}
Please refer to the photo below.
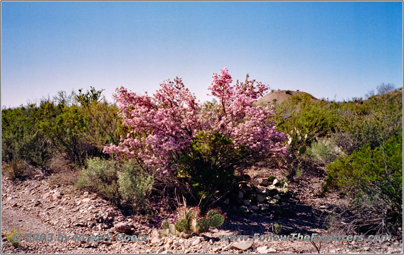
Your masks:
{"label": "low grey-green bushy shrub left of the pink flowering shrub's base", "polygon": [[153,183],[153,175],[147,175],[132,161],[93,158],[87,160],[87,168],[80,173],[76,186],[96,192],[118,206],[142,208]]}

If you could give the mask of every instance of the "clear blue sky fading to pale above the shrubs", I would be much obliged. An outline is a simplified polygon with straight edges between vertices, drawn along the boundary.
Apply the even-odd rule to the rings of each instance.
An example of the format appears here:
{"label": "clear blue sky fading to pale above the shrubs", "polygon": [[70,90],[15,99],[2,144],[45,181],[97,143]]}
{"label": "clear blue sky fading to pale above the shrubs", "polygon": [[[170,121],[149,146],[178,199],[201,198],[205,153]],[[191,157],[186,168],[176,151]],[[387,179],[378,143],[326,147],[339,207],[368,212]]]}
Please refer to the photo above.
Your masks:
{"label": "clear blue sky fading to pale above the shrubs", "polygon": [[90,86],[153,92],[179,76],[207,100],[227,66],[333,99],[402,87],[401,2],[2,2],[1,105]]}

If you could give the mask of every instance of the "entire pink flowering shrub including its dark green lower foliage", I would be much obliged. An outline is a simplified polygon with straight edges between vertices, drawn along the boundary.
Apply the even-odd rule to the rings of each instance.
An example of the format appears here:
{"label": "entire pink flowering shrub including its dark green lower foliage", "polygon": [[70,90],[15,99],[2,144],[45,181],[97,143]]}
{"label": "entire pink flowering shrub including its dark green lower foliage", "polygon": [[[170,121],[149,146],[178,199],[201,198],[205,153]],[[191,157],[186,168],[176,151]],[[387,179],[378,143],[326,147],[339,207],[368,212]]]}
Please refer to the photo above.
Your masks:
{"label": "entire pink flowering shrub including its dark green lower foliage", "polygon": [[254,106],[268,86],[237,81],[226,68],[209,86],[216,98],[198,104],[180,78],[167,79],[153,96],[121,87],[114,95],[127,133],[104,152],[135,158],[158,178],[178,183],[195,201],[210,201],[234,179],[237,168],[282,154],[270,106]]}

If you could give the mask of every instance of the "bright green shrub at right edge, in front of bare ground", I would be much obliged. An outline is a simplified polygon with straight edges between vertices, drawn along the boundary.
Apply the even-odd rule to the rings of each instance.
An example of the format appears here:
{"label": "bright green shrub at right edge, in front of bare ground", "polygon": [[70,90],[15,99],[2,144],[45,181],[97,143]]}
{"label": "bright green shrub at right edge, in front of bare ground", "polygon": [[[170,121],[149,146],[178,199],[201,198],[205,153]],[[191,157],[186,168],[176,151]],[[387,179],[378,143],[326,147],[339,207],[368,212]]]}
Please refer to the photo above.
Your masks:
{"label": "bright green shrub at right edge, in front of bare ground", "polygon": [[[371,212],[368,215],[378,219],[379,230],[401,222],[402,135],[389,138],[375,149],[364,145],[327,165],[323,191],[335,188],[345,190],[360,213]],[[369,223],[369,228],[374,224]]]}

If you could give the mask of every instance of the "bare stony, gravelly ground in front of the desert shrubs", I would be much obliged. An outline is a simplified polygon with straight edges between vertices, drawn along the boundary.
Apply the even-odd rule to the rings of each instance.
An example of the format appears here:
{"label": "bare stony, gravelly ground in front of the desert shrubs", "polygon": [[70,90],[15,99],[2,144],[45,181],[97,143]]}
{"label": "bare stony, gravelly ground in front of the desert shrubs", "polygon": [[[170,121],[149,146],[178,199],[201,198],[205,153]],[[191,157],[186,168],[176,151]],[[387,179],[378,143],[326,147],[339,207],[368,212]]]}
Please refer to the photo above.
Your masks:
{"label": "bare stony, gravelly ground in front of the desert shrubs", "polygon": [[[254,175],[255,173],[251,173]],[[258,174],[257,174],[258,175]],[[309,183],[310,185],[308,185]],[[257,184],[258,185],[258,184]],[[268,185],[268,184],[267,184]],[[270,184],[271,185],[271,184]],[[221,241],[220,235],[266,235],[274,231],[280,234],[325,234],[322,220],[340,202],[336,197],[315,196],[320,179],[311,176],[289,184],[289,192],[278,199],[279,210],[264,211],[257,204],[241,205],[250,212],[239,212],[240,205],[231,201],[224,211],[225,224],[219,229],[187,238],[164,237],[156,224],[150,224],[144,216],[124,216],[108,201],[96,194],[79,191],[72,186],[54,185],[51,177],[35,176],[34,179],[13,182],[2,178],[2,252],[3,253],[317,253],[311,242],[305,241]],[[283,188],[283,186],[282,186]],[[254,191],[256,192],[256,191]],[[259,191],[257,191],[259,193]],[[251,193],[251,192],[250,192]],[[257,194],[258,194],[257,193]],[[265,193],[265,192],[264,192]],[[243,194],[242,203],[257,199],[257,194]],[[238,194],[236,194],[238,195]],[[241,195],[240,195],[241,197]],[[259,197],[258,199],[262,199]],[[247,201],[244,201],[247,200]],[[227,201],[229,202],[229,201]],[[235,210],[236,208],[237,210]],[[252,210],[251,210],[252,208]],[[265,209],[265,208],[264,208]],[[247,210],[248,211],[248,210]],[[274,229],[275,223],[278,229]],[[279,229],[281,226],[281,229]],[[13,246],[7,239],[12,231],[22,234],[19,245]],[[141,235],[145,240],[118,241],[118,237]],[[27,233],[37,233],[31,240],[24,240]],[[52,241],[40,241],[53,234]],[[71,236],[67,241],[61,237]],[[110,236],[101,241],[74,240],[76,234]],[[147,235],[147,237],[145,237]],[[45,239],[50,239],[47,235]],[[32,238],[38,238],[33,241]],[[319,242],[316,243],[319,248]],[[385,242],[328,242],[320,247],[321,253],[402,253],[402,237]]]}

